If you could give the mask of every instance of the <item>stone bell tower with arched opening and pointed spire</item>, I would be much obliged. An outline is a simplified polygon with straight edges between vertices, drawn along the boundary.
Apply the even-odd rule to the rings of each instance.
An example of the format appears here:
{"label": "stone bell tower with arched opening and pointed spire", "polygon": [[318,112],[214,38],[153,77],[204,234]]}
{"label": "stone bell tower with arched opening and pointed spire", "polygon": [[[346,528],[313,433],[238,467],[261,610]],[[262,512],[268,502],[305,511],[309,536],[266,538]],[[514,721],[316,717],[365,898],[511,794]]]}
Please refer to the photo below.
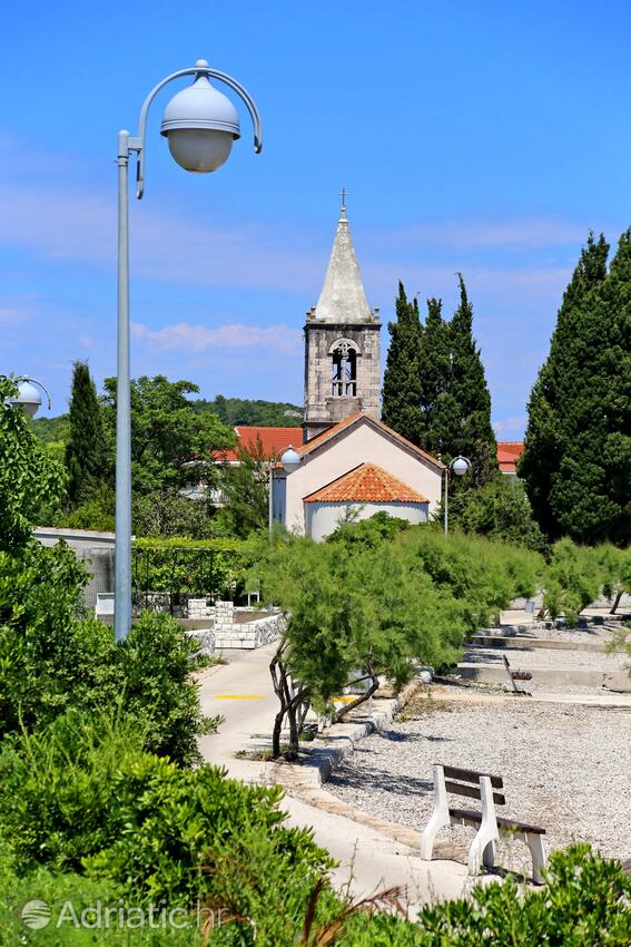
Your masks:
{"label": "stone bell tower with arched opening and pointed spire", "polygon": [[307,310],[305,441],[356,411],[378,417],[381,410],[382,324],[362,284],[345,194],[324,285]]}

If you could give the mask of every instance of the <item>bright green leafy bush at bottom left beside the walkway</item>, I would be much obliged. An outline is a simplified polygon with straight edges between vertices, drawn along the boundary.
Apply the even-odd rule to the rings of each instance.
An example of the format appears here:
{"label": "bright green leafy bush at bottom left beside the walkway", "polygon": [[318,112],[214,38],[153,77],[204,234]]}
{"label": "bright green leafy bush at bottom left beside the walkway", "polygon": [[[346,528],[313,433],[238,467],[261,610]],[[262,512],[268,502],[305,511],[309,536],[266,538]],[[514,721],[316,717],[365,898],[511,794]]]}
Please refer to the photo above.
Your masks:
{"label": "bright green leafy bush at bottom left beside the walkway", "polygon": [[77,711],[4,741],[0,834],[20,870],[85,871],[137,898],[188,906],[218,892],[217,859],[247,860],[257,846],[306,888],[329,865],[308,831],[282,827],[280,788],[181,769],[142,745],[130,719]]}

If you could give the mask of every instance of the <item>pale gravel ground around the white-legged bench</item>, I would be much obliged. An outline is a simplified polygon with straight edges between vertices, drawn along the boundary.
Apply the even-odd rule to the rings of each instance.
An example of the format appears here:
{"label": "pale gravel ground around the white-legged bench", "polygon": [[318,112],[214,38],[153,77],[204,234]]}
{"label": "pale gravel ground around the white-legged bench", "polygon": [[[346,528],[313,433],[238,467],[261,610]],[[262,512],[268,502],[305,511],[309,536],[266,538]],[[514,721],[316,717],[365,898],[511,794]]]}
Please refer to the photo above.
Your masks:
{"label": "pale gravel ground around the white-legged bench", "polygon": [[[415,704],[406,713],[415,709],[415,719],[363,740],[327,788],[358,809],[422,829],[432,811],[433,763],[497,773],[503,813],[543,826],[549,851],[578,839],[631,856],[631,713],[504,702]],[[454,806],[469,802],[452,797]],[[450,828],[441,838],[469,846],[473,834]],[[502,840],[497,863],[523,871],[528,849]]]}

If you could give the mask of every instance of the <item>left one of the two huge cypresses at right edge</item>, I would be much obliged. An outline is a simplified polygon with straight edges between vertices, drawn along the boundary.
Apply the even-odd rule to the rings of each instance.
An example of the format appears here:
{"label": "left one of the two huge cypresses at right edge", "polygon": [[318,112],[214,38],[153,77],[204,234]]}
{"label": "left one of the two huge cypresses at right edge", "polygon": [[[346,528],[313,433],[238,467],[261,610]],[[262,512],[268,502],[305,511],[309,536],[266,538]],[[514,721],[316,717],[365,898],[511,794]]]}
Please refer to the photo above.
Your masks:
{"label": "left one of the two huge cypresses at right edge", "polygon": [[[595,382],[591,378],[593,361],[600,358],[603,345],[609,349],[605,324],[602,325],[601,335],[593,319],[597,309],[601,309],[597,300],[607,279],[608,254],[609,245],[604,236],[601,234],[597,242],[590,234],[563,294],[550,354],[539,372],[528,407],[525,449],[519,473],[525,480],[533,514],[551,539],[568,531],[569,505],[573,505],[570,496],[576,494],[580,480],[586,475],[586,467],[583,466],[581,471],[573,470],[570,476],[573,467],[570,458],[575,453],[576,439],[583,440],[581,430],[575,427],[576,410],[582,414],[581,404],[592,403],[589,390]],[[594,329],[597,335],[590,338]],[[597,384],[597,388],[600,385]],[[600,406],[597,406],[597,417],[600,411]],[[591,431],[591,428],[590,420],[588,430]],[[600,438],[597,441],[600,442]],[[591,448],[584,458],[585,462],[590,456]],[[588,476],[588,480],[592,479]],[[571,531],[580,535],[582,529],[579,534]]]}

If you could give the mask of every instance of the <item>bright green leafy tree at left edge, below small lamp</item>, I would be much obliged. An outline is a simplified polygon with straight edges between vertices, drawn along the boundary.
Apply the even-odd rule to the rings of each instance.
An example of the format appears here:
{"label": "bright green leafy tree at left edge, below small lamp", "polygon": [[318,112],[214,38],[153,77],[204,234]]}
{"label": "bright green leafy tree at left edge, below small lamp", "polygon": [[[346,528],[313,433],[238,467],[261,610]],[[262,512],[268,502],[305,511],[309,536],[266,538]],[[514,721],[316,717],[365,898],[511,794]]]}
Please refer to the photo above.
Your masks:
{"label": "bright green leafy tree at left edge, below small lamp", "polygon": [[0,550],[31,540],[41,509],[63,490],[63,468],[48,453],[24,413],[10,406],[16,381],[0,375]]}

